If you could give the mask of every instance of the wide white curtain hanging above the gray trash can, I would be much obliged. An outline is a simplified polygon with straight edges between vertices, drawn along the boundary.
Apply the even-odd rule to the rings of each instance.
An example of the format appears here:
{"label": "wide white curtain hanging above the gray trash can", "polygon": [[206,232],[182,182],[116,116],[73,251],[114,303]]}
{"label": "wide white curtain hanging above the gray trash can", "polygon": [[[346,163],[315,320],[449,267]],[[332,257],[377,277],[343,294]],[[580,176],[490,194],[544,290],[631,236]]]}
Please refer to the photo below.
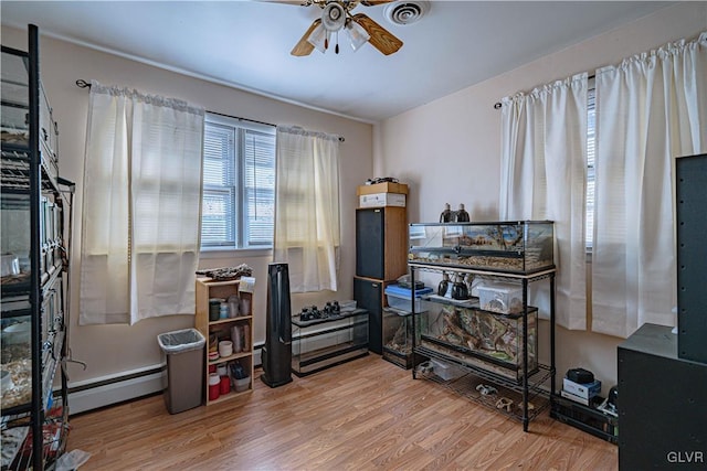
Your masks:
{"label": "wide white curtain hanging above the gray trash can", "polygon": [[203,116],[181,100],[92,83],[82,324],[194,313]]}

